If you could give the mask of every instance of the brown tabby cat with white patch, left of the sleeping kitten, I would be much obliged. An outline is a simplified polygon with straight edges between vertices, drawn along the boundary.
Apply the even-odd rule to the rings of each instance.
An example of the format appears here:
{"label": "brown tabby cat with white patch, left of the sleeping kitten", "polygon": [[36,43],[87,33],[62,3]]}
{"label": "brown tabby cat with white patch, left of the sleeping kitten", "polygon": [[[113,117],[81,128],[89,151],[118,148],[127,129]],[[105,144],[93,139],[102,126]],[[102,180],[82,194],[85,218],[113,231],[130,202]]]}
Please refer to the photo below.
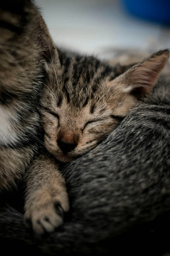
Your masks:
{"label": "brown tabby cat with white patch, left of the sleeping kitten", "polygon": [[21,180],[37,151],[43,63],[52,44],[34,4],[0,4],[0,191]]}

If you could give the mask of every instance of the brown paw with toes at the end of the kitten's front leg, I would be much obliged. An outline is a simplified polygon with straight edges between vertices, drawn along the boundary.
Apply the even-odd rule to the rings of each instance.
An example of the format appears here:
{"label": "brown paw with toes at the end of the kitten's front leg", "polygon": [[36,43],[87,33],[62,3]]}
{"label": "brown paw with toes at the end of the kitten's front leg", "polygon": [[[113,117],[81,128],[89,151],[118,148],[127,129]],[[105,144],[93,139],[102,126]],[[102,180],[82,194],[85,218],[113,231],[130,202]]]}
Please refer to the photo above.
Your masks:
{"label": "brown paw with toes at the end of the kitten's front leg", "polygon": [[[53,192],[54,193],[54,192]],[[52,232],[63,223],[64,213],[69,210],[68,196],[65,190],[51,196],[45,189],[39,191],[25,204],[25,225],[37,234]]]}

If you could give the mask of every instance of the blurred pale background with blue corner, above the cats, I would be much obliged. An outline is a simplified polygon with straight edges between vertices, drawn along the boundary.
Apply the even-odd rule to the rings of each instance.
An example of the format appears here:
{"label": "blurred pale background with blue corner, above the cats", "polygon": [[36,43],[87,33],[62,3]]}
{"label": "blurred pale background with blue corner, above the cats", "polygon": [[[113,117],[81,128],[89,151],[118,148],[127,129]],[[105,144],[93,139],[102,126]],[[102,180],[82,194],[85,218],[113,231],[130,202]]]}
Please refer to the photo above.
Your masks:
{"label": "blurred pale background with blue corner, above the cats", "polygon": [[103,59],[170,47],[170,0],[37,0],[54,42]]}

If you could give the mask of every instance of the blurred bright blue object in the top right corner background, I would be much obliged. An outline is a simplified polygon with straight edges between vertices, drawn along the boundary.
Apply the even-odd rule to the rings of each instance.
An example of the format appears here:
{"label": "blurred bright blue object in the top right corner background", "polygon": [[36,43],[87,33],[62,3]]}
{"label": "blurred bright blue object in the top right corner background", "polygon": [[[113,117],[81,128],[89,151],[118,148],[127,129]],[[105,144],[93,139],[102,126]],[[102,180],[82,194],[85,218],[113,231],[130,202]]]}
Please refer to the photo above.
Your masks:
{"label": "blurred bright blue object in the top right corner background", "polygon": [[170,0],[122,0],[136,17],[170,25]]}

